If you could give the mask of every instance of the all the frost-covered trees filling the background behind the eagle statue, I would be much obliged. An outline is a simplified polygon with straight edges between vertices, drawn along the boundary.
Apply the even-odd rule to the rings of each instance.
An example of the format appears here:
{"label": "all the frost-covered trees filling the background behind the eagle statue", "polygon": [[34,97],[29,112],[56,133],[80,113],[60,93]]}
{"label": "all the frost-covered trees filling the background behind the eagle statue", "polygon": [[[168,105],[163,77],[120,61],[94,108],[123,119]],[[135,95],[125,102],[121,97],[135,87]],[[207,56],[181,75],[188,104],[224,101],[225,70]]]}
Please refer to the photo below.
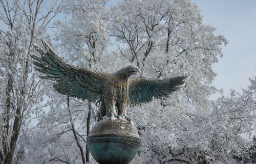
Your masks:
{"label": "all the frost-covered trees filling the background behind the eagle statue", "polygon": [[[185,89],[127,108],[142,145],[132,163],[255,161],[256,78],[225,96],[212,86],[212,65],[228,43],[202,23],[190,0],[0,1],[0,163],[96,163],[86,136],[100,102],[54,91],[38,77],[30,54],[44,38],[66,62],[115,72],[133,65],[139,76],[189,74]],[[210,100],[219,92],[221,97]],[[32,122],[32,123],[31,123]]]}

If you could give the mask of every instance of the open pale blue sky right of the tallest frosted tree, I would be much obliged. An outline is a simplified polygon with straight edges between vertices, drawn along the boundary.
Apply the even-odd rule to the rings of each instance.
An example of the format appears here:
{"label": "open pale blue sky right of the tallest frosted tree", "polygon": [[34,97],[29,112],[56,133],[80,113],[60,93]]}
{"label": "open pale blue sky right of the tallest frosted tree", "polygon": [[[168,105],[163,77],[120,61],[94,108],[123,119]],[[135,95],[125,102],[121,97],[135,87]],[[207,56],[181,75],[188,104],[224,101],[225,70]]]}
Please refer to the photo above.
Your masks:
{"label": "open pale blue sky right of the tallest frosted tree", "polygon": [[[109,6],[121,0],[110,0]],[[256,1],[255,0],[193,0],[203,23],[217,28],[216,34],[225,35],[229,44],[223,46],[223,58],[214,64],[218,74],[214,86],[242,92],[249,85],[249,77],[256,75]]]}

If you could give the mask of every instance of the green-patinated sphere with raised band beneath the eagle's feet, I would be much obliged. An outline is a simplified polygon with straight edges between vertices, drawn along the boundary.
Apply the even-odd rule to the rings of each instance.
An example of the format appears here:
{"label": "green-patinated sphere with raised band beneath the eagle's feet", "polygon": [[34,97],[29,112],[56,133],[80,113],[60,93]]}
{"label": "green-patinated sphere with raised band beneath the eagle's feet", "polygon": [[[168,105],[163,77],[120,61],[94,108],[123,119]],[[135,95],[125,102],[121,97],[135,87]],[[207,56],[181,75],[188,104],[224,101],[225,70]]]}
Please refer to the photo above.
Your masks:
{"label": "green-patinated sphere with raised band beneath the eagle's feet", "polygon": [[140,144],[136,127],[122,119],[99,121],[87,137],[89,150],[100,164],[127,164],[136,155]]}

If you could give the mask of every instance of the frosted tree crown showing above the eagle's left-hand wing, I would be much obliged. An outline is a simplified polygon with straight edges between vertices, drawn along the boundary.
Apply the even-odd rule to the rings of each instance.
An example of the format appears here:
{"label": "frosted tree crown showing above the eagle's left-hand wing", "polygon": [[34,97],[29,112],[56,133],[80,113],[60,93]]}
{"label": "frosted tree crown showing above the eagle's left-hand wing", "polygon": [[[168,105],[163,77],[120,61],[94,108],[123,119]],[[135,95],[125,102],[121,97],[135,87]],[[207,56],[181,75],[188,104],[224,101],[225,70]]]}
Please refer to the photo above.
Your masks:
{"label": "frosted tree crown showing above the eagle's left-hand wing", "polygon": [[[109,44],[106,33],[106,0],[69,1],[63,12],[66,19],[55,22],[55,40],[61,48],[62,56],[76,65],[97,69]],[[79,62],[78,62],[79,61]]]}

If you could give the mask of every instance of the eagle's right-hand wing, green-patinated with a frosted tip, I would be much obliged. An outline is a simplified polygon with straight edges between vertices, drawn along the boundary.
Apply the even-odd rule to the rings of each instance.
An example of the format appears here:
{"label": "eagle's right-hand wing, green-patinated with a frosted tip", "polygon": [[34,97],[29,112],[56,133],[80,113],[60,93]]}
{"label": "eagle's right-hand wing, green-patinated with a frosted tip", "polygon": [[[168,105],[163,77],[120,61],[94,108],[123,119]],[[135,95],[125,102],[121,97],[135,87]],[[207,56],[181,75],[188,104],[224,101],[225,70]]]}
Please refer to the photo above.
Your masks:
{"label": "eagle's right-hand wing, green-patinated with a frosted tip", "polygon": [[182,90],[189,76],[167,78],[164,80],[129,78],[130,105],[150,102],[154,98],[166,97],[174,91]]}

